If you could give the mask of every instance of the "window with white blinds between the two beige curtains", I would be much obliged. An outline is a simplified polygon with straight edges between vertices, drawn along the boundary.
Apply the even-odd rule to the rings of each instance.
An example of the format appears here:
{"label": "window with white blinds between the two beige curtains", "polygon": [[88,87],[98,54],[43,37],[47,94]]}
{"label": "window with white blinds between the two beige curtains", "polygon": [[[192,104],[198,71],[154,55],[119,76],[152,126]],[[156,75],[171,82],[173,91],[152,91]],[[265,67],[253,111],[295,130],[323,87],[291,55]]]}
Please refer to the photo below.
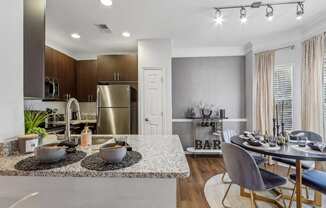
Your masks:
{"label": "window with white blinds between the two beige curtains", "polygon": [[[284,103],[285,130],[292,130],[293,123],[293,66],[277,65],[273,71],[273,96],[275,102],[281,106]],[[281,108],[281,107],[280,107]],[[281,109],[280,114],[281,115]]]}

